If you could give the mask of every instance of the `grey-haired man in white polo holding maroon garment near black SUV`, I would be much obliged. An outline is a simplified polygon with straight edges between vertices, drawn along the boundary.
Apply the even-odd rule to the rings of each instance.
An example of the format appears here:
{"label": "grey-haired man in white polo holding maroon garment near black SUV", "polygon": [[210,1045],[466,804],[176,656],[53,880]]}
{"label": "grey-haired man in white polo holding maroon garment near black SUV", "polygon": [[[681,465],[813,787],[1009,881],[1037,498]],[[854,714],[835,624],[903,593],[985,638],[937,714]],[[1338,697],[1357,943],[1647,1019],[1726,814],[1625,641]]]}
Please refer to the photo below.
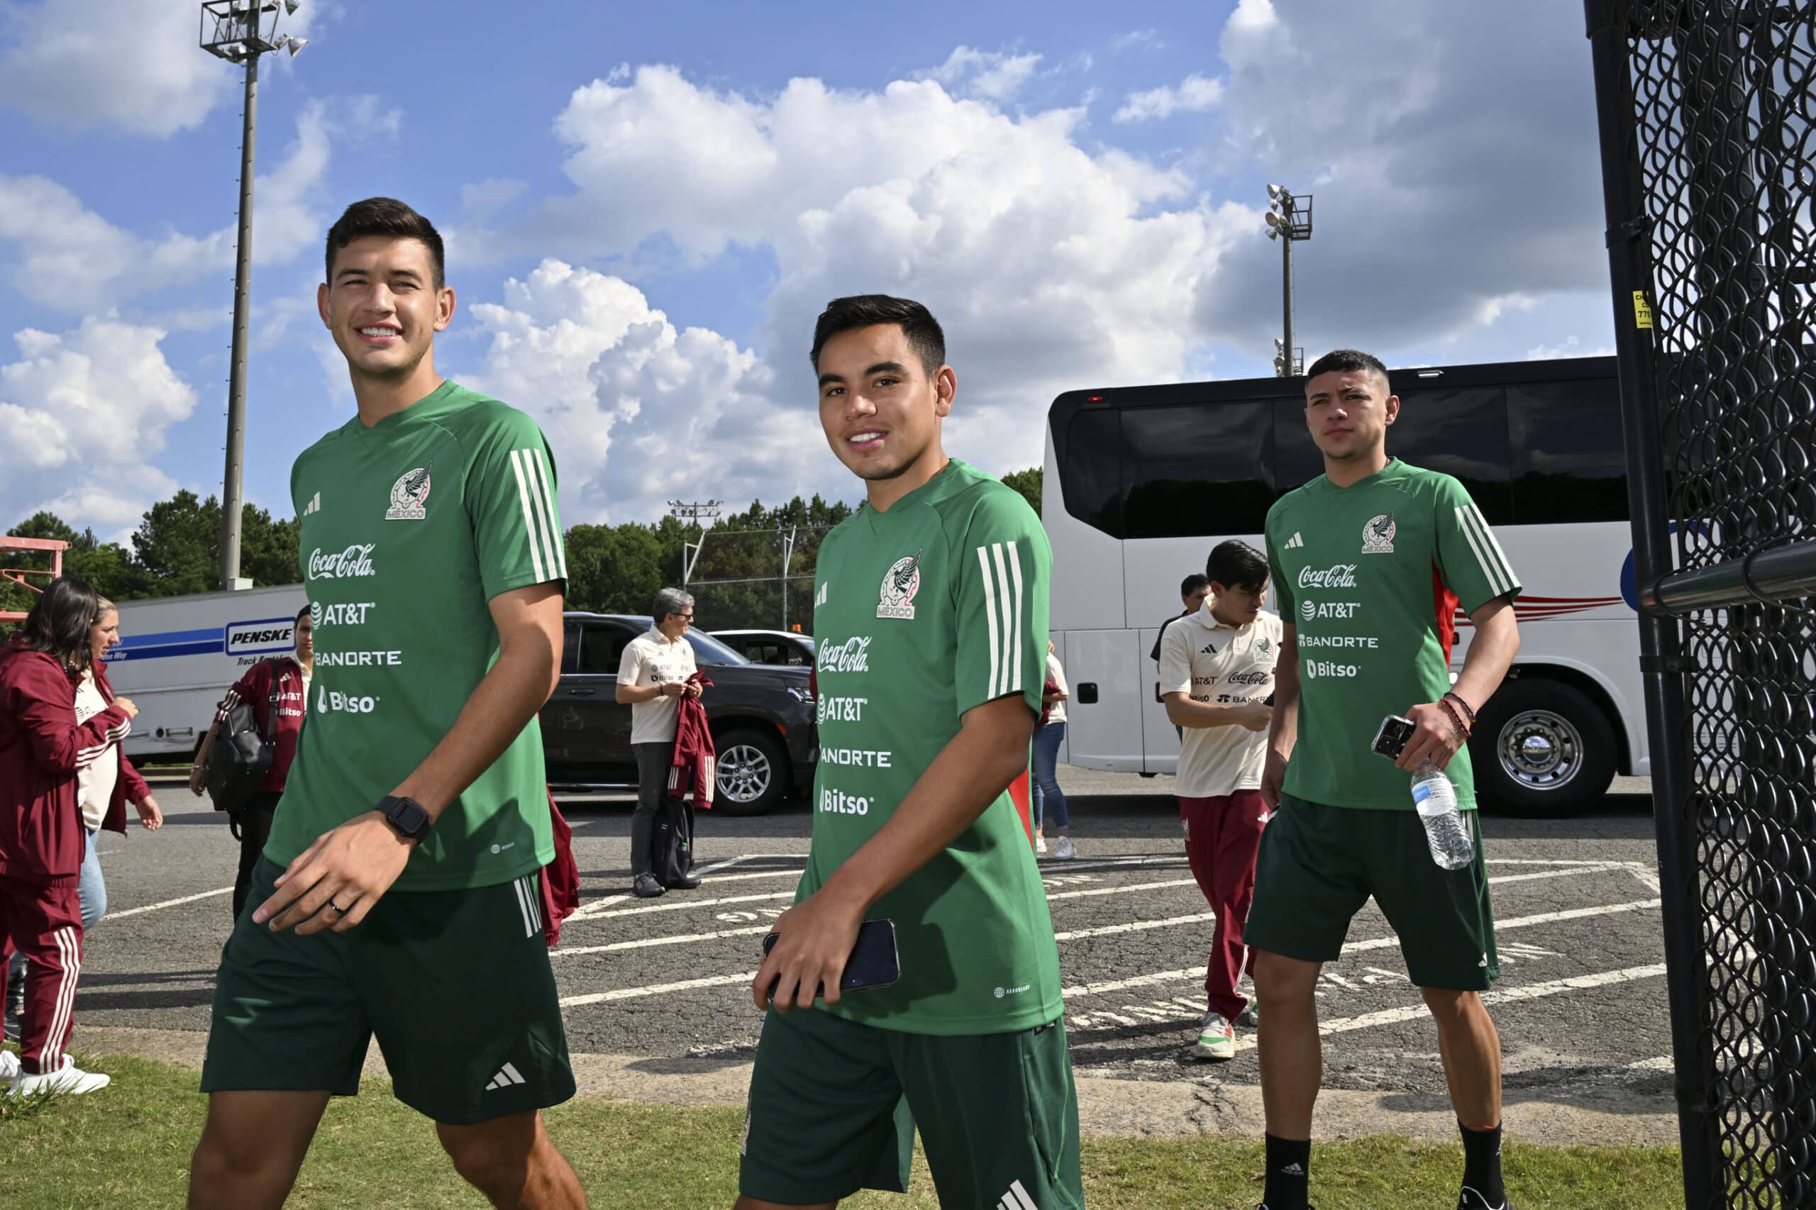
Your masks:
{"label": "grey-haired man in white polo holding maroon garment near black SUV", "polygon": [[[630,892],[654,899],[665,887],[656,879],[650,841],[656,838],[656,812],[668,787],[668,767],[676,750],[676,723],[681,698],[699,698],[694,676],[694,645],[686,629],[694,625],[694,598],[679,589],[656,594],[650,610],[656,625],[630,640],[617,663],[617,699],[630,705],[630,750],[637,758],[637,810],[630,816]],[[699,887],[692,874],[679,887]]]}

